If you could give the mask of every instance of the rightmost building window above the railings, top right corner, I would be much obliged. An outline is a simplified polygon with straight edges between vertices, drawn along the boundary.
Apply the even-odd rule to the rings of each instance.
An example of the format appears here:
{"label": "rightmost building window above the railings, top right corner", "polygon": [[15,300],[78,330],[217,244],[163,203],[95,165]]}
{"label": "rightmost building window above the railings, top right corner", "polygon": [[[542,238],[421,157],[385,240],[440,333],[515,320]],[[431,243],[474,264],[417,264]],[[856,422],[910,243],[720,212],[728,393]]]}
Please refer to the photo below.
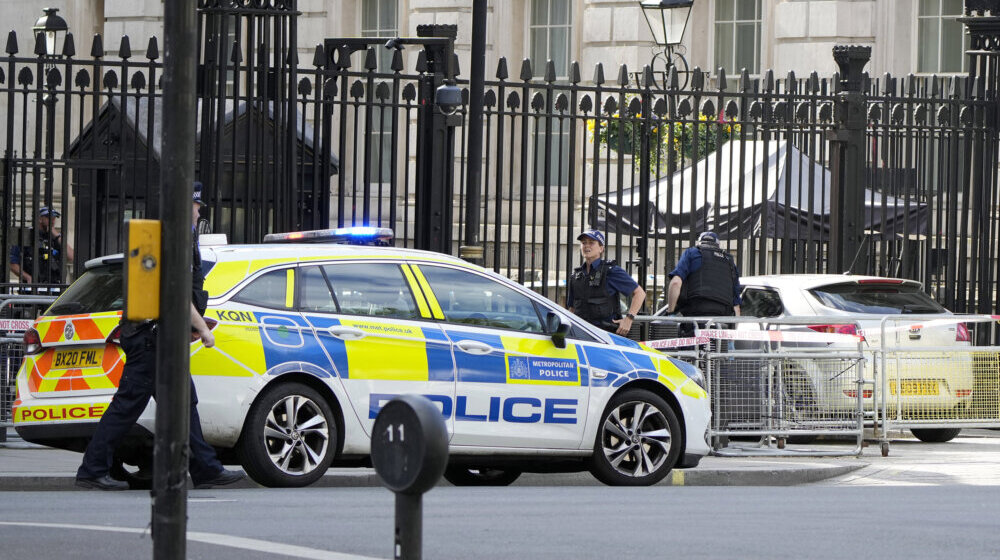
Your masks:
{"label": "rightmost building window above the railings, top right corner", "polygon": [[962,0],[920,0],[917,12],[917,71],[925,74],[966,71],[969,37],[958,21]]}

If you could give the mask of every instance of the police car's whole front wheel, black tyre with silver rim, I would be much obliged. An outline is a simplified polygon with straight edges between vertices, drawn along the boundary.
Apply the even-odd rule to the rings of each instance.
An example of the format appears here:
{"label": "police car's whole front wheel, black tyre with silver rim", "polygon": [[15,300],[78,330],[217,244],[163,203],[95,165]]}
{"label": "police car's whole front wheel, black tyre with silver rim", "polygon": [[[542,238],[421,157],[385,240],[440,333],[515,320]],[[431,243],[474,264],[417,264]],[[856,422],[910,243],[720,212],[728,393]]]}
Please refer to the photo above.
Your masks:
{"label": "police car's whole front wheel, black tyre with silver rim", "polygon": [[632,389],[608,403],[594,442],[590,471],[610,486],[656,484],[681,453],[681,427],[655,393]]}

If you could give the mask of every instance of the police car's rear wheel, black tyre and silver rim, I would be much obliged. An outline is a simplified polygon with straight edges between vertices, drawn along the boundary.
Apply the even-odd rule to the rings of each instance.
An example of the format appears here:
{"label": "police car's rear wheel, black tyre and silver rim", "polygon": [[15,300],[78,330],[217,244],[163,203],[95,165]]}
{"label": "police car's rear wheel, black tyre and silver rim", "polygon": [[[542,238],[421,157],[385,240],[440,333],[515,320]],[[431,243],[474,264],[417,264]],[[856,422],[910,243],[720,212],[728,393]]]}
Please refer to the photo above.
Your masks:
{"label": "police car's rear wheel, black tyre and silver rim", "polygon": [[330,405],[300,383],[267,389],[251,407],[237,444],[250,478],[271,487],[316,482],[336,450],[337,426]]}

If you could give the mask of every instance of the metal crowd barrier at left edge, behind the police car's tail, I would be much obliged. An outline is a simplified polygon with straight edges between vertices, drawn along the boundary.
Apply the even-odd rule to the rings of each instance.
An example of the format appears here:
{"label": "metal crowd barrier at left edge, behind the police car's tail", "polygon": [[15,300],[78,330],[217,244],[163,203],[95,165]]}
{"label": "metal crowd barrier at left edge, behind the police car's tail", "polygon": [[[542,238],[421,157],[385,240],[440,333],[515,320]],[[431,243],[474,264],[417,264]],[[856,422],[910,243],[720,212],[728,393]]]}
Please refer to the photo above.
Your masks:
{"label": "metal crowd barrier at left edge, behind the police car's tail", "polygon": [[0,295],[0,441],[7,440],[7,428],[12,426],[15,380],[24,358],[24,331],[55,300],[55,296]]}

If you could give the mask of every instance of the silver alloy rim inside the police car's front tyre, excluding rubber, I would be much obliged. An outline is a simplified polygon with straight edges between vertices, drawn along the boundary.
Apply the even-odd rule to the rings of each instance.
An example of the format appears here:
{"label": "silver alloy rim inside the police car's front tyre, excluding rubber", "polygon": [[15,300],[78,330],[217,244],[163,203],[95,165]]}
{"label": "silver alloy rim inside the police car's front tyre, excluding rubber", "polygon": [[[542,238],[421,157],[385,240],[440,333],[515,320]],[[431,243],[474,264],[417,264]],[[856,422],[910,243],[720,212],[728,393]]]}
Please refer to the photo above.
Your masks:
{"label": "silver alloy rim inside the police car's front tyre, excluding rubber", "polygon": [[629,477],[644,477],[663,467],[672,435],[663,412],[644,401],[628,401],[611,410],[601,427],[608,464]]}

